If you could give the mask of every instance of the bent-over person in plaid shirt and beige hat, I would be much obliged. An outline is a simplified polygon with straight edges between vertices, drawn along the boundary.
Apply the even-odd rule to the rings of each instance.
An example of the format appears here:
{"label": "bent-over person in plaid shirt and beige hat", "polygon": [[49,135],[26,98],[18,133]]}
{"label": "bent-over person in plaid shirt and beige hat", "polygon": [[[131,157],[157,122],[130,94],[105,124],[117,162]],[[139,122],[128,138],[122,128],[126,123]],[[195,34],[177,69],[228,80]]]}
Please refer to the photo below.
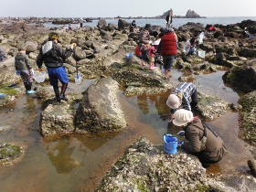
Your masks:
{"label": "bent-over person in plaid shirt and beige hat", "polygon": [[[191,98],[191,102],[190,102]],[[181,82],[169,95],[166,105],[170,107],[171,114],[169,117],[169,122],[171,123],[174,119],[174,113],[178,108],[183,107],[183,109],[191,111],[197,107],[197,87],[192,82]]]}

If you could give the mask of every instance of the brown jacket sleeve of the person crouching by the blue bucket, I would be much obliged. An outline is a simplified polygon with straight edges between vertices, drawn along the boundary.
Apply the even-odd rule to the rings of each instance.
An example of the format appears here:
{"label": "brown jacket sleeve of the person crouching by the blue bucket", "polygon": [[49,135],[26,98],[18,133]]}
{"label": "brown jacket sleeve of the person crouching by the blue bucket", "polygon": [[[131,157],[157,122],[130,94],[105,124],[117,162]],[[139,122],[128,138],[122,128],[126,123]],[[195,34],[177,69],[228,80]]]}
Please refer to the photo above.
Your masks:
{"label": "brown jacket sleeve of the person crouching by the blue bucket", "polygon": [[197,130],[188,126],[187,130],[185,131],[185,137],[186,137],[186,141],[182,147],[188,153],[191,153],[191,154],[200,152],[201,142],[200,142],[199,133],[197,132]]}

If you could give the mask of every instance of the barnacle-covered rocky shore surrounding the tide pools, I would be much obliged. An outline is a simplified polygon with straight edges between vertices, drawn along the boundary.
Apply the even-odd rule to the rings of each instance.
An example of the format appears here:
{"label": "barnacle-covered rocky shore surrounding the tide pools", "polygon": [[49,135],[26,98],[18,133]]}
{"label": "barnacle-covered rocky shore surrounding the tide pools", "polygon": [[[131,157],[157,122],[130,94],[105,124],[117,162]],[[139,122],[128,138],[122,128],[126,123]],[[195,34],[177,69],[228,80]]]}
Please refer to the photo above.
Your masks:
{"label": "barnacle-covered rocky shore surrounding the tide pools", "polygon": [[[155,40],[160,27],[150,26],[151,39]],[[236,25],[217,25],[217,31],[208,34],[202,49],[205,59],[197,55],[185,56],[182,52],[186,41],[204,29],[202,25],[188,23],[176,30],[178,54],[176,69],[181,71],[181,80],[193,80],[194,75],[206,74],[227,69],[223,80],[232,89],[242,92],[240,105],[228,103],[199,91],[198,113],[202,118],[213,121],[227,112],[240,113],[240,135],[251,147],[256,146],[255,137],[255,82],[256,44],[248,43],[241,28],[250,27],[256,31],[256,22],[242,21]],[[0,105],[16,101],[25,94],[20,77],[16,76],[14,57],[20,43],[27,45],[27,54],[33,69],[37,69],[36,58],[42,42],[48,37],[51,28],[27,25],[16,22],[13,25],[0,25],[1,47],[6,58],[0,62]],[[68,94],[69,101],[57,104],[48,80],[37,86],[37,97],[44,101],[41,115],[41,134],[53,137],[66,133],[111,133],[124,129],[125,113],[120,105],[117,91],[122,87],[124,94],[141,95],[171,91],[176,83],[163,80],[160,69],[154,72],[141,68],[140,60],[134,55],[127,60],[126,54],[133,52],[138,33],[130,32],[125,21],[119,26],[107,24],[101,19],[97,27],[83,27],[78,30],[58,28],[63,48],[77,43],[75,55],[66,60],[65,68],[69,80],[74,82],[76,63],[83,79],[96,79],[85,92]],[[44,70],[46,70],[44,68]],[[81,95],[81,96],[80,96]],[[79,107],[74,107],[78,105]],[[5,132],[5,130],[3,130]],[[7,144],[0,145],[2,148]],[[9,146],[8,146],[9,147]],[[154,146],[141,138],[133,144],[123,157],[112,166],[97,191],[242,191],[244,183],[256,187],[252,176],[238,177],[238,186],[230,187],[229,178],[208,178],[206,170],[197,158],[178,150],[177,155],[166,155],[163,146]],[[19,149],[18,151],[22,151]],[[26,153],[26,152],[25,152]],[[15,155],[16,156],[16,155]],[[21,156],[21,155],[17,155]],[[0,155],[0,161],[9,157]],[[10,159],[11,161],[11,159]]]}

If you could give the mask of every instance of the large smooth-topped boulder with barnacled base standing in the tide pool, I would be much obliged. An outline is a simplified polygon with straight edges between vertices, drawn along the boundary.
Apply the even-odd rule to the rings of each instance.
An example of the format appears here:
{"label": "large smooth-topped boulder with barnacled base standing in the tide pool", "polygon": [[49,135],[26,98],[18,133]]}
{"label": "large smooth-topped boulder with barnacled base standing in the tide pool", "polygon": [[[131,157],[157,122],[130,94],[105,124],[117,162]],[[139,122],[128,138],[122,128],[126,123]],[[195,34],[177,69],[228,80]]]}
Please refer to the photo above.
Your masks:
{"label": "large smooth-topped boulder with barnacled base standing in the tide pool", "polygon": [[119,84],[112,78],[100,79],[85,91],[77,112],[76,126],[81,132],[112,132],[126,127],[118,101]]}

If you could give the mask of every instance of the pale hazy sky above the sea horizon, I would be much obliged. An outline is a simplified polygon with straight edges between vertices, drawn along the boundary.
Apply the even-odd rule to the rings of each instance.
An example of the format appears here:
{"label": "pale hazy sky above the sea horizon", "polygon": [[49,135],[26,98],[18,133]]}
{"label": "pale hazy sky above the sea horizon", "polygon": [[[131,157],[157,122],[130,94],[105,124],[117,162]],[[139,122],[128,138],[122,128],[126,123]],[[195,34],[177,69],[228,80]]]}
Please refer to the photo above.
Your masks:
{"label": "pale hazy sky above the sea horizon", "polygon": [[256,0],[0,0],[0,17],[159,16],[170,8],[185,16],[256,16]]}

